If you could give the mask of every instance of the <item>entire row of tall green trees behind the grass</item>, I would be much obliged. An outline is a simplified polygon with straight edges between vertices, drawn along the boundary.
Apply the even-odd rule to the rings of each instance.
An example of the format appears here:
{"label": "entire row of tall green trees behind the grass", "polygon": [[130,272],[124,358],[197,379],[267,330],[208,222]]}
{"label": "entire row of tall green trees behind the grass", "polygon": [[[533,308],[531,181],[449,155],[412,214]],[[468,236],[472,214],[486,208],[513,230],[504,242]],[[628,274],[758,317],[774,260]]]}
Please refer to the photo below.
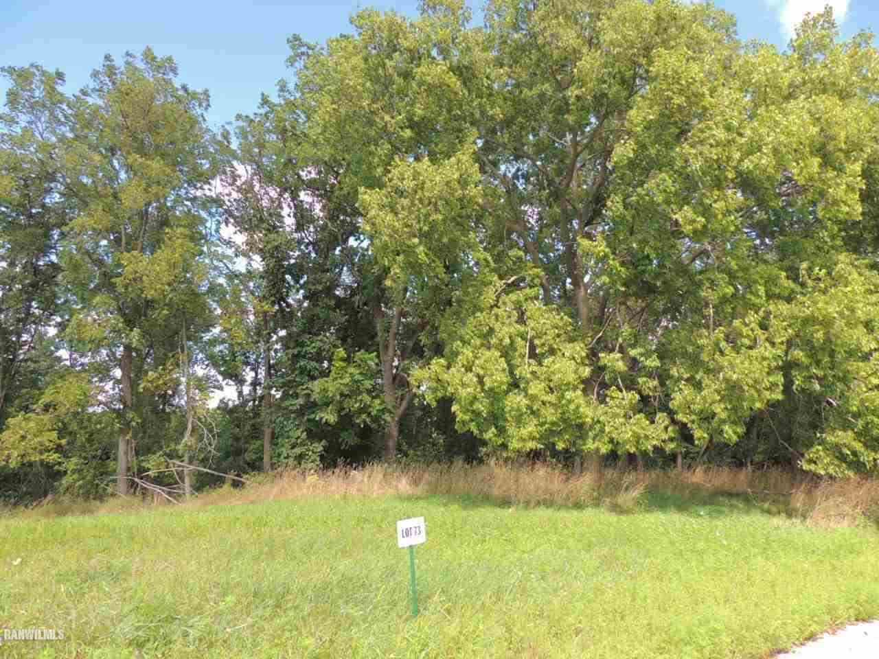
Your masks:
{"label": "entire row of tall green trees behind the grass", "polygon": [[219,130],[149,48],[72,93],[2,69],[0,496],[379,458],[875,473],[871,34],[425,0],[288,43]]}

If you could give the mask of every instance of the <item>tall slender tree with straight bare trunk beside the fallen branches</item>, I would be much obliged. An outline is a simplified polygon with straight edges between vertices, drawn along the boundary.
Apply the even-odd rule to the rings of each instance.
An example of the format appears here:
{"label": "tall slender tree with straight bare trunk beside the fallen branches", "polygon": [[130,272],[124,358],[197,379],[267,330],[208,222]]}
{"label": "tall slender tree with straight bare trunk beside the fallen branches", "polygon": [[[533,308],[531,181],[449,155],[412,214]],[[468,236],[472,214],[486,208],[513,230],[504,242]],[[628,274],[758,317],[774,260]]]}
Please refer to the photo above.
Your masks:
{"label": "tall slender tree with straight bare trunk beside the fallen branches", "polygon": [[147,404],[142,377],[175,358],[180,332],[207,314],[198,257],[215,173],[208,97],[176,76],[149,48],[121,66],[106,57],[73,99],[62,155],[64,193],[77,204],[62,252],[76,300],[69,337],[119,366],[120,494]]}

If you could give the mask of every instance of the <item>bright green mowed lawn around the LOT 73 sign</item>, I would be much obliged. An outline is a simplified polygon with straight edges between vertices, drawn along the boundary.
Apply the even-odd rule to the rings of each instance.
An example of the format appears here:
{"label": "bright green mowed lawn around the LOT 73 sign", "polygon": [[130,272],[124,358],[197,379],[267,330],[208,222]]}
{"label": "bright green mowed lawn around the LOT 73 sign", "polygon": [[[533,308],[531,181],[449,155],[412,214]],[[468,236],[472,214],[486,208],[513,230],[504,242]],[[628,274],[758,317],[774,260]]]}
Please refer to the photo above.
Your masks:
{"label": "bright green mowed lawn around the LOT 73 sign", "polygon": [[[419,515],[413,619],[396,520]],[[3,657],[757,658],[879,617],[875,526],[746,507],[309,498],[7,517],[0,539],[0,627],[65,634]]]}

